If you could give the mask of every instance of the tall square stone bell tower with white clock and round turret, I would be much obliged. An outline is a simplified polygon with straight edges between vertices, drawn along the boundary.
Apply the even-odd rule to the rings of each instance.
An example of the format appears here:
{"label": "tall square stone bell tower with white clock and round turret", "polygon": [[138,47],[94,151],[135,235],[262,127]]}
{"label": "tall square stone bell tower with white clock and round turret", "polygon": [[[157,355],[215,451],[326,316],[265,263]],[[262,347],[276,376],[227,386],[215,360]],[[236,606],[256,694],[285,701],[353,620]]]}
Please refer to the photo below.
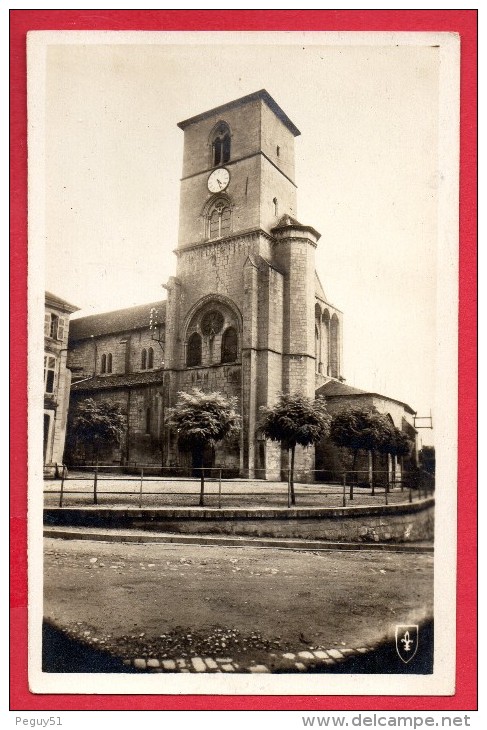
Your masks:
{"label": "tall square stone bell tower with white clock and round turret", "polygon": [[178,124],[184,132],[177,273],[166,315],[170,405],[201,387],[237,396],[242,434],[216,463],[280,478],[278,445],[258,434],[280,392],[314,394],[314,251],[296,220],[294,139],[265,90]]}

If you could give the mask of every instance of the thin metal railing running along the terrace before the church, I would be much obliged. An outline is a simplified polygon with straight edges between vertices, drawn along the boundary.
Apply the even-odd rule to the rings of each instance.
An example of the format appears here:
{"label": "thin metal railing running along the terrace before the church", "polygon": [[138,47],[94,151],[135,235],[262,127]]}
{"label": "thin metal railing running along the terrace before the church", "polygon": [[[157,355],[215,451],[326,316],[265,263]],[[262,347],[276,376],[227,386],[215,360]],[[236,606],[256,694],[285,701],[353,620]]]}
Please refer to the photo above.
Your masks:
{"label": "thin metal railing running along the terrace before the church", "polygon": [[[286,470],[283,481],[225,478],[220,467],[188,469],[113,464],[88,464],[68,471],[56,466],[58,478],[45,479],[46,506],[125,505],[225,507],[302,506],[346,507],[411,503],[434,491],[434,477],[416,470],[392,481],[389,472],[346,471],[337,480],[332,472],[298,470],[294,484]],[[201,489],[201,476],[204,490]]]}

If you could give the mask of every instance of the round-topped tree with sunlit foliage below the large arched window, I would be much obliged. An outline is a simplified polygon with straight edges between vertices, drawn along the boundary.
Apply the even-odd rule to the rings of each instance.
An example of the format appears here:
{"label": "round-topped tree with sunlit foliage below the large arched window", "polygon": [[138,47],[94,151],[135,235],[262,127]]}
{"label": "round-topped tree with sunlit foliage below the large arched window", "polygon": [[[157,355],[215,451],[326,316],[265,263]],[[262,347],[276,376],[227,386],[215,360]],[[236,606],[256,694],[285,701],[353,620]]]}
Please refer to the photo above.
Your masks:
{"label": "round-topped tree with sunlit foliage below the large arched window", "polygon": [[204,506],[205,448],[214,446],[223,438],[236,436],[240,430],[237,399],[222,393],[204,393],[193,388],[189,393],[178,393],[178,400],[168,411],[166,423],[176,431],[178,446],[193,456],[194,466],[200,470],[200,506]]}

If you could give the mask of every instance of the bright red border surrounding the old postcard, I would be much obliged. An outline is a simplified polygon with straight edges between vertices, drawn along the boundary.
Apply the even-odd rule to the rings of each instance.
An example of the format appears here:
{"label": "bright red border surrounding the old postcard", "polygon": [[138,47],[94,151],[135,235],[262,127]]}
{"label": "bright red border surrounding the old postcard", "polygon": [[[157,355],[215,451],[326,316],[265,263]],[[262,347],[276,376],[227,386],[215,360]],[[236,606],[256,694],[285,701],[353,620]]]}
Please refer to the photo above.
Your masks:
{"label": "bright red border surrounding the old postcard", "polygon": [[[11,501],[12,710],[92,710],[90,695],[34,695],[27,683],[27,119],[29,30],[450,31],[461,36],[459,475],[456,693],[405,696],[100,695],[103,710],[475,710],[477,707],[477,11],[11,10]],[[23,322],[23,330],[18,323]],[[15,326],[14,326],[15,323]],[[19,336],[20,335],[20,336]]]}

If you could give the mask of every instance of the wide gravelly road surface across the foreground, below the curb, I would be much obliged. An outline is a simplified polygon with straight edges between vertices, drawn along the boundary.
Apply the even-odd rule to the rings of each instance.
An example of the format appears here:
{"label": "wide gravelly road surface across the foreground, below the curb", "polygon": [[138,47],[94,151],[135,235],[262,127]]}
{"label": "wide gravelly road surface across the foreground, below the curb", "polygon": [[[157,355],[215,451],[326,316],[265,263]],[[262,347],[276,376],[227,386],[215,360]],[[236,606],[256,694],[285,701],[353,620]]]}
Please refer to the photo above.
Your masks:
{"label": "wide gravelly road surface across the foreground, below the curb", "polygon": [[[429,553],[52,538],[45,548],[46,671],[81,671],[76,659],[59,668],[62,642],[78,663],[88,652],[127,671],[342,671],[390,642],[396,624],[432,617]],[[388,656],[388,671],[404,670]]]}

